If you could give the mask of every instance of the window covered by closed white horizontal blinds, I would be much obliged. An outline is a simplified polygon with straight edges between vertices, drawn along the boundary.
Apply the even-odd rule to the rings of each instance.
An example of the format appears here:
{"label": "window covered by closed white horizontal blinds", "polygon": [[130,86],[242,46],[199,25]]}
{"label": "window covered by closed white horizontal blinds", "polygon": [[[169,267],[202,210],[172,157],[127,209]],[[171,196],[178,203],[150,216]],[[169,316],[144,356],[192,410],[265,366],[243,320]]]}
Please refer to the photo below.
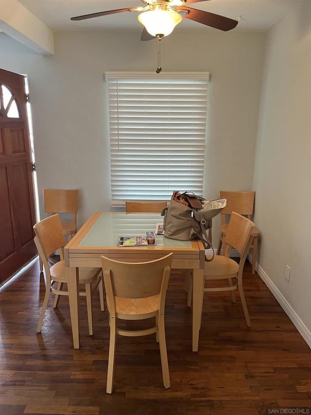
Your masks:
{"label": "window covered by closed white horizontal blinds", "polygon": [[106,72],[112,205],[203,193],[208,72]]}

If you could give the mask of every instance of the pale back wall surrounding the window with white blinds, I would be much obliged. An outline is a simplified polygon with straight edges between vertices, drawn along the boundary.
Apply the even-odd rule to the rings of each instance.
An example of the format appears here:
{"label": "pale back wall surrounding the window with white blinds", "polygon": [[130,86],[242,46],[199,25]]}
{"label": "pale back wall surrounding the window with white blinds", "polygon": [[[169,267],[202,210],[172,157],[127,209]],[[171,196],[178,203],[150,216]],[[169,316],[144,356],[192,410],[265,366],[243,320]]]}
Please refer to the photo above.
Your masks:
{"label": "pale back wall surrounding the window with white blinds", "polygon": [[[81,225],[110,209],[104,72],[155,72],[157,42],[141,42],[140,33],[56,33],[55,55],[40,56],[0,35],[0,66],[29,76],[42,217],[43,188],[80,188]],[[161,41],[162,72],[211,73],[207,198],[252,189],[263,50],[263,33],[178,33]],[[216,241],[217,221],[214,228]]]}

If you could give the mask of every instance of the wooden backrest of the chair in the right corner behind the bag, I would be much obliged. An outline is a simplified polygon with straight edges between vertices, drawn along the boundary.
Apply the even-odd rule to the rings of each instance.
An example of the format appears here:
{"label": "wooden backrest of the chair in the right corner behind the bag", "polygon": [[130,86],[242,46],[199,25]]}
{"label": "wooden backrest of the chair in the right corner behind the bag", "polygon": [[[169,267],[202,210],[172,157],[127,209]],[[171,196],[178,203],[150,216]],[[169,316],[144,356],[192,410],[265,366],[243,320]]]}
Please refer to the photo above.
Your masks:
{"label": "wooden backrest of the chair in the right corner behind the bag", "polygon": [[251,218],[254,211],[255,192],[219,192],[220,198],[226,198],[227,204],[221,212],[222,223],[225,223],[225,215],[231,215],[232,212],[239,213]]}

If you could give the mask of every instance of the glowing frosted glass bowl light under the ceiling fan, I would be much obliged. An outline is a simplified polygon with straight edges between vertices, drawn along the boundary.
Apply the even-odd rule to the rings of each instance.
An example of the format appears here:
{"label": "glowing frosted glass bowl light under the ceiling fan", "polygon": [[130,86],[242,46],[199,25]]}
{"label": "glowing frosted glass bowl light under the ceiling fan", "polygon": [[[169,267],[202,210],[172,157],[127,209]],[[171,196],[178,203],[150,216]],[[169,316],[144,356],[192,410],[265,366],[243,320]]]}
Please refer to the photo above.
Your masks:
{"label": "glowing frosted glass bowl light under the ceiling fan", "polygon": [[138,16],[138,21],[152,36],[170,35],[181,20],[182,17],[177,12],[169,10],[149,10]]}

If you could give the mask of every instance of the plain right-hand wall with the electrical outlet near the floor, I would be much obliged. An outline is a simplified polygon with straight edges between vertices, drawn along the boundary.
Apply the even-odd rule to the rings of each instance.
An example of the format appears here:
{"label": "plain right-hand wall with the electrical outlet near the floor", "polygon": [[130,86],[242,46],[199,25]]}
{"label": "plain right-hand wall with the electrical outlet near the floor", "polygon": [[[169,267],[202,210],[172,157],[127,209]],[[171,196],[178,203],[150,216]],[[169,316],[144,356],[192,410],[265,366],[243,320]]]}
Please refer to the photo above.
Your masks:
{"label": "plain right-hand wall with the electrical outlet near the floor", "polygon": [[[254,173],[259,274],[311,346],[311,1],[267,34]],[[285,268],[291,268],[290,281]]]}

